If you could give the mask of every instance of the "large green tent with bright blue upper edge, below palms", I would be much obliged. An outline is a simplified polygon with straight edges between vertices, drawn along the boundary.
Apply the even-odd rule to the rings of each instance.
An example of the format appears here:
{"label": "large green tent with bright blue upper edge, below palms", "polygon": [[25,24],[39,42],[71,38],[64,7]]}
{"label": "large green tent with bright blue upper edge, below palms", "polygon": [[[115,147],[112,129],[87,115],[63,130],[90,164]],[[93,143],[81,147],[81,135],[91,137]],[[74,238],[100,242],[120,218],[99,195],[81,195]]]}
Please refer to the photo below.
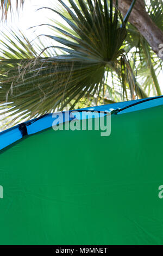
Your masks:
{"label": "large green tent with bright blue upper edge, below palms", "polygon": [[52,114],[0,133],[1,245],[163,244],[163,96],[83,112],[110,136]]}

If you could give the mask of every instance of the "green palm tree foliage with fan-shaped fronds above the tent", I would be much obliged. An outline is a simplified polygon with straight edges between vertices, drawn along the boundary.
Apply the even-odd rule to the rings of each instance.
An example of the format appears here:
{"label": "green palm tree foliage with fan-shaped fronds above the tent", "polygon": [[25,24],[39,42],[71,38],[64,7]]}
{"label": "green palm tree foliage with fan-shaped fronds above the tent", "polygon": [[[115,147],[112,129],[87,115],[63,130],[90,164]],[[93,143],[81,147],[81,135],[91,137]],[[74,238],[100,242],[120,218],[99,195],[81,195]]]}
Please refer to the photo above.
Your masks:
{"label": "green palm tree foliage with fan-shaped fronds above the tent", "polygon": [[[0,107],[4,113],[20,121],[56,109],[143,98],[151,90],[153,95],[161,94],[156,74],[162,63],[128,22],[136,0],[124,19],[118,1],[115,7],[111,0],[58,2],[62,10],[48,9],[68,26],[52,20],[46,24],[54,35],[43,36],[53,45],[43,46],[40,39],[32,45],[13,31],[10,37],[3,34]],[[162,2],[158,2],[148,13],[162,29]]]}

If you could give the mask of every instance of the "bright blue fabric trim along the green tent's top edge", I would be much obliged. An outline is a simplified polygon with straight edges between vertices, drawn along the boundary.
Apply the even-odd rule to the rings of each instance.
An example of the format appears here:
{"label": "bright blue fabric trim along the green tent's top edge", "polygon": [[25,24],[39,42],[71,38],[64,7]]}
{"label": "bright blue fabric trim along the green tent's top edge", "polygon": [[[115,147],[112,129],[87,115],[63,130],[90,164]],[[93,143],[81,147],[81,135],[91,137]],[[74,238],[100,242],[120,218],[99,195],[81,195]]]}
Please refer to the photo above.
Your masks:
{"label": "bright blue fabric trim along the green tent's top edge", "polygon": [[[109,105],[97,106],[97,107],[88,107],[80,109],[80,111],[100,111],[100,112],[113,112],[117,114],[124,114],[133,111],[140,111],[146,108],[152,108],[156,106],[163,105],[163,95],[157,97],[149,97],[141,100],[132,100],[113,103]],[[79,110],[79,109],[76,109]],[[66,112],[61,112],[65,114]],[[70,111],[68,111],[70,113]],[[64,115],[65,116],[65,115]],[[72,118],[73,119],[73,118]],[[72,120],[70,119],[70,120]],[[54,117],[53,114],[46,114],[42,117],[32,119],[23,123],[22,127],[26,127],[27,134],[32,135],[39,131],[45,130],[53,126]],[[22,130],[20,125],[11,127],[8,130],[0,132],[0,150],[8,147],[8,145],[18,141],[23,137]]]}

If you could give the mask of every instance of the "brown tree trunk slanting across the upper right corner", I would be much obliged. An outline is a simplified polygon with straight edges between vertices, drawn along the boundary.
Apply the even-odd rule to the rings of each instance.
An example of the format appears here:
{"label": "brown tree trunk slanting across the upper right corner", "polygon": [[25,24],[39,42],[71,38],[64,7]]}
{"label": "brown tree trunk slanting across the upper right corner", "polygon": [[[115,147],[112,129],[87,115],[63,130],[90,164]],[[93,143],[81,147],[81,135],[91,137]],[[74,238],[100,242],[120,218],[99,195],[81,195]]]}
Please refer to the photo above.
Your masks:
{"label": "brown tree trunk slanting across the upper right corner", "polygon": [[[114,0],[115,2],[115,0]],[[132,0],[119,0],[118,8],[125,16]],[[159,29],[146,12],[145,2],[137,0],[133,10],[131,11],[129,22],[133,24],[137,30],[147,40],[152,50],[163,60],[163,56],[159,54],[161,50],[159,46],[163,44],[163,32]]]}

